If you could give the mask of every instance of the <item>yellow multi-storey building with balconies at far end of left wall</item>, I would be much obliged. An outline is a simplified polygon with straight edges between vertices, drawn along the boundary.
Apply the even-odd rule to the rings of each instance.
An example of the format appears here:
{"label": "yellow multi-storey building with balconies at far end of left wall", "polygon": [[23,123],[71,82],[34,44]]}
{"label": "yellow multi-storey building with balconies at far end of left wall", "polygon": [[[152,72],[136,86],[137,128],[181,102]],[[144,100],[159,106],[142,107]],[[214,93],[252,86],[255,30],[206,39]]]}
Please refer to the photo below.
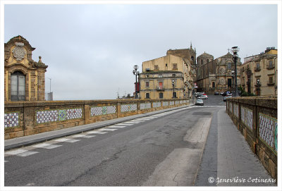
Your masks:
{"label": "yellow multi-storey building with balconies at far end of left wall", "polygon": [[167,54],[142,63],[141,99],[188,98],[192,96],[190,59]]}

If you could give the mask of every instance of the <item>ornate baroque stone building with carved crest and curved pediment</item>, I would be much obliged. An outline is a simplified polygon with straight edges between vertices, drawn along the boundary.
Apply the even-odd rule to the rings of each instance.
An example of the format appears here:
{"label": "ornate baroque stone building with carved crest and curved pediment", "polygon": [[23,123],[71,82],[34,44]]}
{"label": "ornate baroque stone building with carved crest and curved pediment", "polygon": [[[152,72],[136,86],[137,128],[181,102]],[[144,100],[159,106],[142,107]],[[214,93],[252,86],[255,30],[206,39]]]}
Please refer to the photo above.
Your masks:
{"label": "ornate baroque stone building with carved crest and curved pediment", "polygon": [[46,66],[32,60],[35,48],[21,36],[4,44],[4,99],[5,101],[45,100]]}

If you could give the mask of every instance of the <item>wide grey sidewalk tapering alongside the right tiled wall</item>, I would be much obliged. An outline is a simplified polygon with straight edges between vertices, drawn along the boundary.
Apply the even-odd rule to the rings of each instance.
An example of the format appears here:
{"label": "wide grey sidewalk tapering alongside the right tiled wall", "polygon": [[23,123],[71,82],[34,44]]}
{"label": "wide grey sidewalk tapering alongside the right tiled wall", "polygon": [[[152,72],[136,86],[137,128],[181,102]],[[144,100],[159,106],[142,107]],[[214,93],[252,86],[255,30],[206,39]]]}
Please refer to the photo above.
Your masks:
{"label": "wide grey sidewalk tapering alongside the right tiled wall", "polygon": [[[218,186],[269,186],[273,180],[225,109],[217,114],[217,182]],[[215,177],[214,177],[215,178]],[[226,180],[233,180],[232,182]],[[264,181],[264,183],[262,183]]]}

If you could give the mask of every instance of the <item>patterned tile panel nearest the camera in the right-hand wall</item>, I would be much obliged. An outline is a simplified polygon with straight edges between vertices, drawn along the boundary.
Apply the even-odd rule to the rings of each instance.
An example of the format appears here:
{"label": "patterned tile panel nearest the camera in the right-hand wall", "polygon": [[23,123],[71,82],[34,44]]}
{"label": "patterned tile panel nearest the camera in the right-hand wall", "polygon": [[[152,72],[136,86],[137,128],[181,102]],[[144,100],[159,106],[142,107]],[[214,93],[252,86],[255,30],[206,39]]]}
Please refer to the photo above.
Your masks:
{"label": "patterned tile panel nearest the camera in the right-hand wall", "polygon": [[259,137],[277,152],[277,119],[259,113]]}

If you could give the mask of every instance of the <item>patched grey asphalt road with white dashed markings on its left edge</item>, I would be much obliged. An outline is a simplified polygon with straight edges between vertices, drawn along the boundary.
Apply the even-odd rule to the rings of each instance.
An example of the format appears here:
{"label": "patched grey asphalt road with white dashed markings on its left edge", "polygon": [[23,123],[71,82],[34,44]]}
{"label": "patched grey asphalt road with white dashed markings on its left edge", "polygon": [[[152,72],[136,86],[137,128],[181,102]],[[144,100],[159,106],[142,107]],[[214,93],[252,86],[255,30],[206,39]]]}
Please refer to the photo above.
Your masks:
{"label": "patched grey asphalt road with white dashed markings on its left edge", "polygon": [[[212,99],[211,99],[212,98]],[[221,105],[209,96],[206,106]],[[190,107],[5,152],[5,186],[189,186],[212,115]]]}

